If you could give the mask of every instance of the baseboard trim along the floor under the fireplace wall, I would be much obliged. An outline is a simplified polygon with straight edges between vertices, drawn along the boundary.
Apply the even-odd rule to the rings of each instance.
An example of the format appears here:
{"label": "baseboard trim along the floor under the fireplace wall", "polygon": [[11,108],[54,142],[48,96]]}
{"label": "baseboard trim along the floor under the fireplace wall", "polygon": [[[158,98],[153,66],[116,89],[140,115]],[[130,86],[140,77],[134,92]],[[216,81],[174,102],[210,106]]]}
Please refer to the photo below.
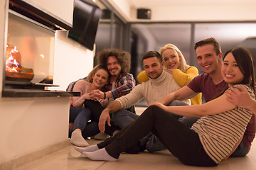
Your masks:
{"label": "baseboard trim along the floor under the fireplace wall", "polygon": [[64,147],[68,147],[70,145],[70,139],[65,140],[63,142],[59,142],[54,145],[50,145],[43,149],[40,149],[36,152],[31,152],[29,154],[23,155],[16,159],[11,159],[8,162],[4,162],[0,164],[0,169],[15,169],[18,166],[22,166],[23,164],[28,164],[29,162],[33,162],[36,159],[46,156],[47,154],[51,154],[56,152]]}

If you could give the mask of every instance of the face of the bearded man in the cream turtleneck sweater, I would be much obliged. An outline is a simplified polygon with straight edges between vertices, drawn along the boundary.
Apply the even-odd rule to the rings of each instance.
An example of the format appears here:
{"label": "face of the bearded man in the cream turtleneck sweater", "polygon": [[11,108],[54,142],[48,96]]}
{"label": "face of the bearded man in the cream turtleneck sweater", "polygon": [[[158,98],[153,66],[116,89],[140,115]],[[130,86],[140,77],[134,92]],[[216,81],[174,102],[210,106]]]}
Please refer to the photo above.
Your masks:
{"label": "face of the bearded man in the cream turtleneck sweater", "polygon": [[163,72],[163,66],[157,57],[149,57],[143,60],[143,67],[150,79],[157,79]]}

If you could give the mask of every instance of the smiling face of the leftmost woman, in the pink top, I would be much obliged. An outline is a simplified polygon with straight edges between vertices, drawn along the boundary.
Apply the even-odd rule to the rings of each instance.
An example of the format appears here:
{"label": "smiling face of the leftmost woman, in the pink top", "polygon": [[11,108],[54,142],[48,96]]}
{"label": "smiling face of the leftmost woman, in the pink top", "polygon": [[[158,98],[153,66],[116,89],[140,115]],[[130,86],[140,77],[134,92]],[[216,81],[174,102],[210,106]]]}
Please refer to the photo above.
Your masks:
{"label": "smiling face of the leftmost woman, in the pink top", "polygon": [[92,75],[92,84],[96,89],[102,89],[105,84],[108,83],[109,74],[105,69],[98,69],[97,72]]}

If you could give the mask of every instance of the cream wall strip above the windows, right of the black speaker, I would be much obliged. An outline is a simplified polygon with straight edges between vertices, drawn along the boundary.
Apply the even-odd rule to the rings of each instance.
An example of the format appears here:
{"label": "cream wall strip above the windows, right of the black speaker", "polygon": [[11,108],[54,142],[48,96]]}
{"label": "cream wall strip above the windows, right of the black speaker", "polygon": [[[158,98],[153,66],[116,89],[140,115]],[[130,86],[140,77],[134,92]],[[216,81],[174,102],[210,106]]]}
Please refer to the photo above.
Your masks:
{"label": "cream wall strip above the windows, right of the black speaker", "polygon": [[240,6],[232,4],[226,6],[221,6],[221,4],[218,6],[214,4],[210,6],[166,6],[154,8],[152,11],[152,20],[156,21],[255,21],[255,19],[255,6],[247,4]]}

